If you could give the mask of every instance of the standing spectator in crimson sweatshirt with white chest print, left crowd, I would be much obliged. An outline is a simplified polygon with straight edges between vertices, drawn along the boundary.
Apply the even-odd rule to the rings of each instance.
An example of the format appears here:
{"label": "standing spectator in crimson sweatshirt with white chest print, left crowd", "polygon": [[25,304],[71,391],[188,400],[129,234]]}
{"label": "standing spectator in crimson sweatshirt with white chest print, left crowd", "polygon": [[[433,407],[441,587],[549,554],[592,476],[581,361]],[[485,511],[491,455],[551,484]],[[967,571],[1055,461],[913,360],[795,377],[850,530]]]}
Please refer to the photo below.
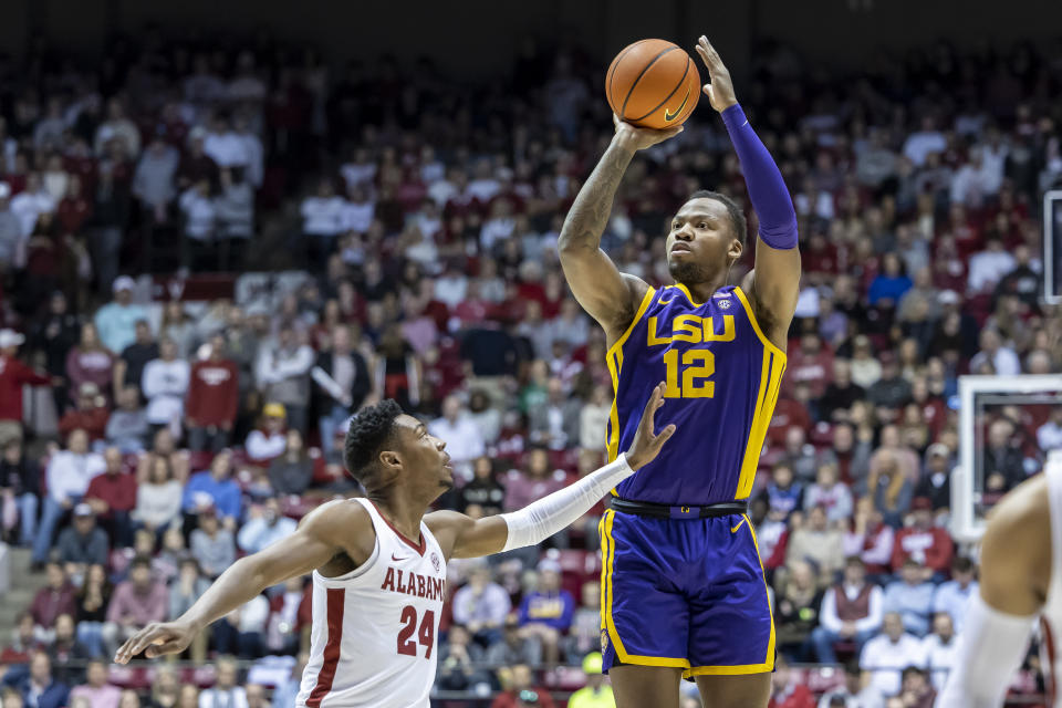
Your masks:
{"label": "standing spectator in crimson sweatshirt with white chest print, left crowd", "polygon": [[210,355],[191,367],[185,416],[188,446],[218,452],[229,445],[240,400],[240,374],[225,355],[225,336],[210,337]]}

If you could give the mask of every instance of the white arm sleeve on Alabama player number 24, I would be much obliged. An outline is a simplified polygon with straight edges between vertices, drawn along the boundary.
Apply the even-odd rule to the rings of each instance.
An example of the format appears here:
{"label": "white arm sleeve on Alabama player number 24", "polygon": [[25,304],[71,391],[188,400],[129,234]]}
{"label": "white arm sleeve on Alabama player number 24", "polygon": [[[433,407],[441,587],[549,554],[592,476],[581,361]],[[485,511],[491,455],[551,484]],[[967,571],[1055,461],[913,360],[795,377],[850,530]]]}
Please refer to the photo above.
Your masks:
{"label": "white arm sleeve on Alabama player number 24", "polygon": [[634,475],[621,454],[614,462],[591,472],[574,485],[559,489],[523,509],[501,514],[509,527],[504,551],[534,545],[586,513],[608,490]]}

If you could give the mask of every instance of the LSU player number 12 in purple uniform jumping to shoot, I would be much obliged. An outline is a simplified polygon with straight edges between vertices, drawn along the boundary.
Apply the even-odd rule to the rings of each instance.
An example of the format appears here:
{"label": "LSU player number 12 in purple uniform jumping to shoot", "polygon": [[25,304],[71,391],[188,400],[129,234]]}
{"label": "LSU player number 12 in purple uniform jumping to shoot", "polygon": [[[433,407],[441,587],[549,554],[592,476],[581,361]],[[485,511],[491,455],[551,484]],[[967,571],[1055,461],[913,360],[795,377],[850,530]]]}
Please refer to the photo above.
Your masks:
{"label": "LSU player number 12 in purple uniform jumping to shoot", "polygon": [[602,519],[602,653],[620,708],[677,705],[680,677],[696,679],[707,707],[766,706],[774,668],[770,601],[745,512],[796,306],[796,216],[719,54],[704,37],[697,52],[759,216],[756,270],[728,285],[746,222],[714,191],[691,195],[671,219],[667,266],[678,284],[657,290],[616,270],[600,243],[624,170],[635,152],[677,133],[620,121],[558,244],[575,298],[608,340],[610,459],[635,437],[660,379],[674,399],[664,415],[679,424],[653,473],[618,485]]}

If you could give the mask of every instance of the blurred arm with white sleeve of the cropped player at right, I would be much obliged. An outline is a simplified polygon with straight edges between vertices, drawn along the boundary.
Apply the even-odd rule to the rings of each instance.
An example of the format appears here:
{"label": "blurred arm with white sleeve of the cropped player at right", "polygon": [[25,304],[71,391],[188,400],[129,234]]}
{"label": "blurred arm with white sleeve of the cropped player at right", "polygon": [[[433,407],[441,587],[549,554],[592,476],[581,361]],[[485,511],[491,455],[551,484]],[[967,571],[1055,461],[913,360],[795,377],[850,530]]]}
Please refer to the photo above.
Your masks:
{"label": "blurred arm with white sleeve of the cropped player at right", "polygon": [[980,589],[967,606],[955,669],[937,708],[999,708],[1029,648],[1051,580],[1047,478],[1025,481],[989,516]]}

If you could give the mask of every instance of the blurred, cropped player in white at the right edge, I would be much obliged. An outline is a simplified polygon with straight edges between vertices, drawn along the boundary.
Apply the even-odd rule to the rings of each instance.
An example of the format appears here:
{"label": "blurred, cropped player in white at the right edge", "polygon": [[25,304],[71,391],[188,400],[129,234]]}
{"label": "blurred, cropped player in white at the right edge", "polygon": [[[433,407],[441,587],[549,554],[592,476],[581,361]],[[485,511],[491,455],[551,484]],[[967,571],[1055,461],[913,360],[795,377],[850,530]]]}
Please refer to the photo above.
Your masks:
{"label": "blurred, cropped player in white at the right edge", "polygon": [[989,513],[980,591],[970,597],[955,668],[937,708],[999,708],[1040,620],[1048,707],[1062,708],[1062,456]]}

